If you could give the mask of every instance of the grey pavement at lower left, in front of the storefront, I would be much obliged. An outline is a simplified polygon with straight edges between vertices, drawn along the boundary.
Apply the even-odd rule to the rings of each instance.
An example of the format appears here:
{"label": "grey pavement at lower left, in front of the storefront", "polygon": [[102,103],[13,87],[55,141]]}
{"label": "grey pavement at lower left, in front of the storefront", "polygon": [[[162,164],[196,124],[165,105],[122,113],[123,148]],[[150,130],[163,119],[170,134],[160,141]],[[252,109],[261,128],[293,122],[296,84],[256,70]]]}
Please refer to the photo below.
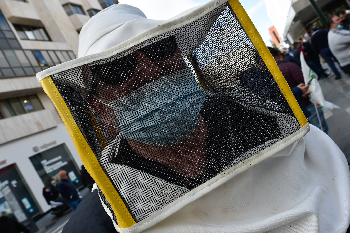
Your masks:
{"label": "grey pavement at lower left, in front of the storefront", "polygon": [[[80,191],[83,198],[90,192],[85,188]],[[71,209],[67,210],[62,217],[57,218],[54,214],[48,213],[38,221],[36,225],[39,228],[37,233],[61,233],[64,225],[68,222],[69,218],[73,214]]]}

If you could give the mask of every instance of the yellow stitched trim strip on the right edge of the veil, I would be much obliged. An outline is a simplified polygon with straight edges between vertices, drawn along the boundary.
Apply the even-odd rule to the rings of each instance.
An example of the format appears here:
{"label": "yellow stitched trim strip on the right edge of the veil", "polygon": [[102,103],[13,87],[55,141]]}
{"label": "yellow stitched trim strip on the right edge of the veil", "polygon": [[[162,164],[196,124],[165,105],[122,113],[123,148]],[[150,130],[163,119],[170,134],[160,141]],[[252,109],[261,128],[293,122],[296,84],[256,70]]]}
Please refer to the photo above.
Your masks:
{"label": "yellow stitched trim strip on the right edge of the veil", "polygon": [[249,16],[245,12],[244,8],[241,6],[238,0],[229,0],[228,1],[233,12],[237,15],[238,20],[243,26],[245,32],[252,40],[255,48],[258,50],[262,60],[265,62],[267,68],[270,70],[272,76],[275,78],[278,86],[280,87],[283,95],[285,96],[290,108],[294,112],[296,119],[298,120],[301,127],[307,125],[306,117],[301,111],[299,104],[296,102],[296,99],[290,90],[289,85],[286,79],[283,77],[280,69],[278,68],[275,60],[273,59],[271,53],[266,47],[264,41],[262,40],[260,34],[255,28],[254,24],[250,20]]}

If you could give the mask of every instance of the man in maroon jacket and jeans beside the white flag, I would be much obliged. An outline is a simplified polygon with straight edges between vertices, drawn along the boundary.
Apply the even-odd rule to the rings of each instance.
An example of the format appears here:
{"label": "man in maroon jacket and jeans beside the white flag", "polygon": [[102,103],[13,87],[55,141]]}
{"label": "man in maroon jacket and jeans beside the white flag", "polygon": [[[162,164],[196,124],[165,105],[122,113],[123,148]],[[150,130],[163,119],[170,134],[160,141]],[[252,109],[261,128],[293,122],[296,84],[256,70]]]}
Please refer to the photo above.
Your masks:
{"label": "man in maroon jacket and jeans beside the white flag", "polygon": [[[293,62],[283,61],[283,56],[279,52],[278,49],[271,48],[271,47],[267,47],[267,48],[268,48],[268,50],[270,50],[270,53],[272,54],[273,58],[275,59],[283,76],[287,80],[287,83],[288,83],[290,89],[295,88],[300,83],[304,83],[303,73],[302,73],[301,69],[296,64],[294,64]],[[328,126],[327,126],[327,123],[324,119],[322,109],[317,108],[318,114],[319,114],[320,119],[321,119],[321,124],[320,124],[320,121],[318,121],[318,118],[317,118],[315,106],[314,106],[314,104],[312,104],[310,102],[309,97],[306,96],[305,98],[302,98],[300,100],[300,102],[311,113],[310,117],[308,118],[310,124],[313,124],[320,129],[321,129],[321,124],[322,124],[323,131],[325,133],[328,133]]]}

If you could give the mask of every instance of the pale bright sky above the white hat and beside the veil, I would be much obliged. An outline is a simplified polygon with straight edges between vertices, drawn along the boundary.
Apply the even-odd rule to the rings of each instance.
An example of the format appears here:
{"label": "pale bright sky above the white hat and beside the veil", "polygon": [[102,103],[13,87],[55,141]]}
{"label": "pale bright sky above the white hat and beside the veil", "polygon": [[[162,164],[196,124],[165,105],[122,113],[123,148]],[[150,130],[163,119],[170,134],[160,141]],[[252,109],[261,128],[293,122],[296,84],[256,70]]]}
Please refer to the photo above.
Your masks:
{"label": "pale bright sky above the white hat and beside the veil", "polygon": [[[209,0],[119,0],[120,3],[138,7],[149,19],[170,19],[187,9],[204,4]],[[271,46],[268,28],[272,26],[267,16],[264,0],[241,0],[255,27],[267,46]]]}

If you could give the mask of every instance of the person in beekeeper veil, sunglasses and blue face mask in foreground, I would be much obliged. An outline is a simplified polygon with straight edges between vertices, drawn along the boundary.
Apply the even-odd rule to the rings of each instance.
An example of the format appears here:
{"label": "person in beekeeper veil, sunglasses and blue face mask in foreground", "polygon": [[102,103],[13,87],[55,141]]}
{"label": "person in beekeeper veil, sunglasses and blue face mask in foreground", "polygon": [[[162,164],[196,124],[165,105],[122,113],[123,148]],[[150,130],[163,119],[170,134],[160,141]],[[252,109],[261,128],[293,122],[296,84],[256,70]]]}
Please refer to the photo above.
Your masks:
{"label": "person in beekeeper veil, sunglasses and blue face mask in foreground", "polygon": [[346,159],[238,1],[169,20],[113,5],[79,37],[37,75],[96,181],[63,233],[346,230]]}

